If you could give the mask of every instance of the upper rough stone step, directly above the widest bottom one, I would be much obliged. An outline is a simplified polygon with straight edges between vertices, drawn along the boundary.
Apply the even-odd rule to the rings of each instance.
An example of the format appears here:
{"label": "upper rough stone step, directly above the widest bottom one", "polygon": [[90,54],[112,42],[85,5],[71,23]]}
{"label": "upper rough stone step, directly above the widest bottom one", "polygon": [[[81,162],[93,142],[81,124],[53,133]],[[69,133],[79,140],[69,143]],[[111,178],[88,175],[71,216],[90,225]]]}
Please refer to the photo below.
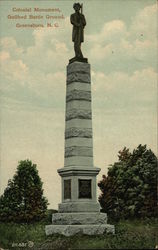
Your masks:
{"label": "upper rough stone step, directly above the widest bottom one", "polygon": [[106,224],[107,214],[105,213],[55,213],[52,215],[54,225],[90,225]]}

